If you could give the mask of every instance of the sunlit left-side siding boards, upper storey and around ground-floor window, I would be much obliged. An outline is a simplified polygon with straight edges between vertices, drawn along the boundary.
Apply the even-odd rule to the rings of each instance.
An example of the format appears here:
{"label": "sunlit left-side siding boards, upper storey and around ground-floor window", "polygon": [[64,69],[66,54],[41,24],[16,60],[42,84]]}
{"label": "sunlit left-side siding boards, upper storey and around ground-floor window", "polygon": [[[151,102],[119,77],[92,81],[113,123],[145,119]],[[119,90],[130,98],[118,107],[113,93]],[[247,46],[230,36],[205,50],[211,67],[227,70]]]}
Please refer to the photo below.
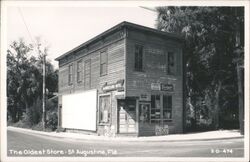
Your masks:
{"label": "sunlit left-side siding boards, upper storey and around ground-floor window", "polygon": [[[100,76],[100,51],[107,50],[108,54],[108,71],[107,75]],[[68,85],[68,66],[71,64],[67,63],[62,65],[59,68],[59,94],[67,94],[67,93],[74,93],[78,91],[85,91],[88,89],[97,89],[99,94],[102,94],[102,86],[104,84],[112,84],[117,82],[119,79],[125,79],[125,65],[124,65],[124,56],[125,56],[125,48],[124,48],[124,39],[120,39],[119,41],[114,41],[112,44],[100,48],[97,51],[94,51],[88,55],[83,55],[82,57],[78,57],[72,61],[75,66],[77,65],[77,61],[82,59],[83,67],[86,60],[91,60],[91,87],[87,88],[84,86],[84,74],[82,82],[77,82],[76,79],[73,81],[71,86]],[[73,64],[73,66],[74,66]],[[74,68],[73,68],[74,69]],[[73,75],[76,76],[77,69],[73,70]],[[84,68],[82,72],[84,72]],[[112,128],[115,129],[117,132],[117,104],[115,94],[112,92],[110,93],[112,103],[111,103],[111,124]],[[61,103],[59,103],[61,104]],[[99,114],[99,109],[97,114]],[[99,121],[97,121],[99,123]],[[110,124],[110,126],[111,126]],[[107,132],[107,126],[97,124],[97,133],[104,134]],[[111,128],[111,127],[109,127]]]}

